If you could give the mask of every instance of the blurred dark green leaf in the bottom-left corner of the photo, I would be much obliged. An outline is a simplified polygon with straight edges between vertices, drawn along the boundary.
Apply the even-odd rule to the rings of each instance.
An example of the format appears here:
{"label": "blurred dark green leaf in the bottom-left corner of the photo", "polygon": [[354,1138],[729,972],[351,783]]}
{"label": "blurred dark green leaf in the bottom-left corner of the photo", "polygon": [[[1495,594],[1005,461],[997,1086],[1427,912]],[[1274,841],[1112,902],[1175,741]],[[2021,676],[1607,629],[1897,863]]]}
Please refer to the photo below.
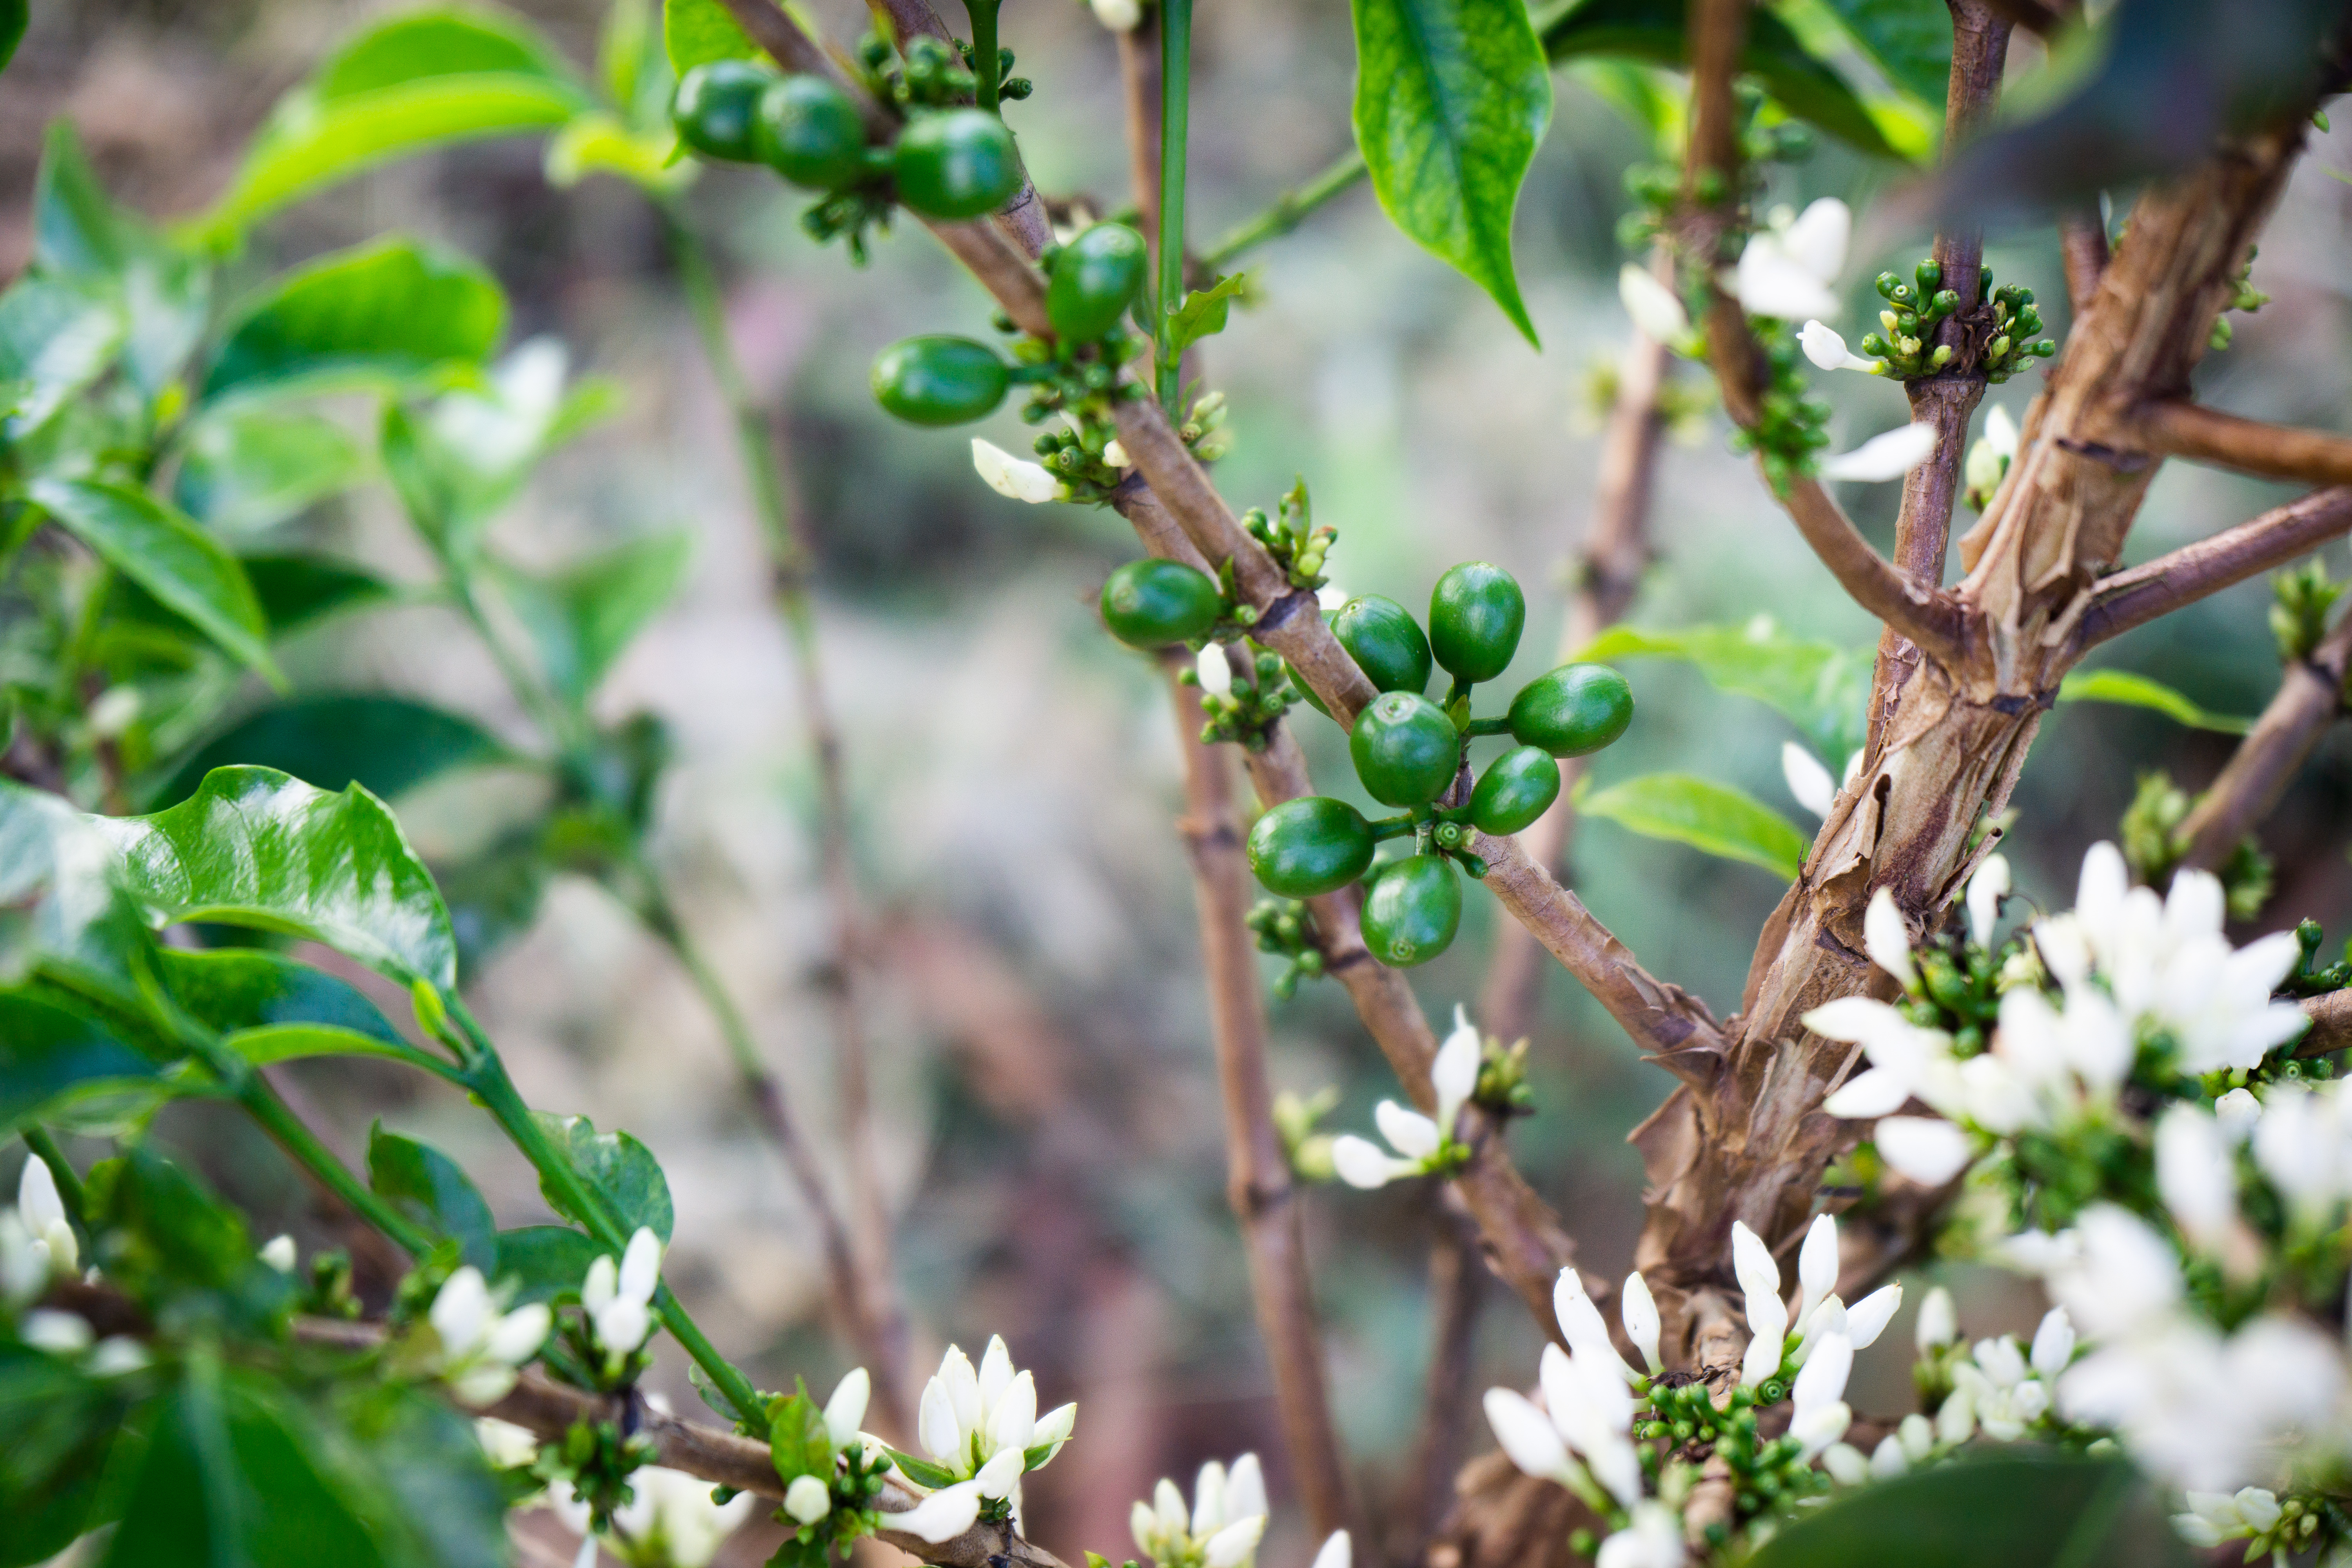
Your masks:
{"label": "blurred dark green leaf in the bottom-left corner of the photo", "polygon": [[59,1356],[0,1345],[0,1568],[40,1563],[106,1519],[125,1401]]}

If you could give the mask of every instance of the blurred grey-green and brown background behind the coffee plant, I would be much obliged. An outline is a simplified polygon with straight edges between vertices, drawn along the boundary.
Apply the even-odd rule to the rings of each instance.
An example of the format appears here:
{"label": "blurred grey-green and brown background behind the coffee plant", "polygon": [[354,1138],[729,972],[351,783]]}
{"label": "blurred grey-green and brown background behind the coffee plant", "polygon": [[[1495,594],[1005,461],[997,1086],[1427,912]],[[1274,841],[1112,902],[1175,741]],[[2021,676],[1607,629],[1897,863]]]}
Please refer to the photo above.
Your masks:
{"label": "blurred grey-green and brown background behind the coffee plant", "polygon": [[[35,2],[0,85],[0,275],[31,252],[28,202],[52,118],[80,127],[122,200],[160,219],[191,214],[228,181],[278,94],[386,9]],[[593,56],[597,0],[515,9],[581,66]],[[811,9],[835,38],[863,24],[849,0]],[[1352,45],[1338,0],[1204,5],[1197,26],[1192,212],[1204,240],[1345,150]],[[1070,0],[1018,0],[1004,38],[1037,82],[1007,118],[1040,188],[1084,193],[1096,209],[1122,205],[1110,35]],[[2037,56],[2020,42],[2013,66]],[[1341,531],[1336,583],[1421,609],[1451,562],[1484,557],[1519,576],[1531,623],[1508,682],[1548,668],[1557,644],[1562,567],[1592,496],[1602,383],[1630,331],[1613,284],[1625,259],[1621,176],[1649,155],[1646,136],[1576,71],[1557,80],[1557,115],[1517,226],[1541,355],[1357,188],[1251,256],[1256,303],[1202,360],[1232,402],[1223,491],[1237,508],[1272,508],[1305,477],[1317,522]],[[2352,129],[2314,139],[2253,270],[2272,303],[2234,317],[2234,343],[2206,360],[2199,393],[2251,416],[2343,428],[2352,179],[2321,165],[2352,165]],[[1773,200],[1844,195],[1865,214],[1849,280],[1884,266],[1907,273],[1926,235],[1867,221],[1870,197],[1900,174],[1823,143],[1773,176]],[[1176,731],[1148,661],[1112,644],[1094,614],[1103,576],[1136,555],[1134,538],[1108,510],[990,494],[971,473],[969,433],[882,416],[866,390],[875,350],[913,331],[983,334],[990,310],[920,230],[880,242],[854,270],[837,247],[802,235],[802,205],[760,172],[710,172],[687,197],[722,259],[727,315],[774,414],[795,517],[818,562],[826,682],[873,936],[863,1004],[880,1182],[917,1361],[934,1363],[950,1340],[978,1354],[1002,1333],[1037,1371],[1047,1403],[1080,1401],[1077,1441],[1028,1500],[1033,1535],[1065,1559],[1124,1556],[1129,1502],[1157,1476],[1190,1490],[1204,1458],[1256,1448],[1277,1497],[1263,1561],[1287,1568],[1312,1542],[1282,1507],[1279,1434],[1223,1197],[1192,898],[1171,830]],[[604,717],[652,710],[677,738],[659,802],[661,867],[840,1192],[830,917],[797,675],[727,411],[691,348],[656,219],[609,179],[550,188],[541,146],[515,139],[402,162],[299,205],[240,268],[256,280],[386,230],[482,259],[513,299],[510,341],[553,334],[576,367],[623,390],[619,416],[557,454],[499,520],[501,550],[553,564],[654,529],[694,534],[691,583],[607,682]],[[2051,230],[1997,233],[1987,261],[2002,280],[2034,287],[2063,341]],[[1849,301],[1856,322],[1865,301],[1877,308],[1867,282]],[[1905,418],[1886,383],[1818,381],[1839,402],[1839,449]],[[1700,395],[1691,367],[1677,386]],[[2037,386],[2020,376],[1987,407],[2023,414]],[[1835,590],[1724,430],[1719,416],[1693,414],[1663,456],[1658,564],[1630,621],[1769,614],[1804,637],[1867,646],[1875,625]],[[1016,451],[1028,444],[1009,411],[978,433]],[[2171,465],[2129,557],[2288,494]],[[1846,487],[1844,501],[1884,543],[1896,487]],[[289,538],[393,576],[423,574],[381,484],[310,510]],[[2263,583],[2220,595],[2098,663],[2143,670],[2209,710],[2253,715],[2277,684],[2267,595]],[[452,625],[430,607],[339,623],[289,649],[289,672],[301,689],[407,691],[524,733],[496,670]],[[1595,785],[1682,769],[1738,785],[1811,832],[1780,780],[1780,745],[1797,733],[1785,719],[1675,663],[1637,661],[1628,675],[1639,722],[1597,759]],[[1338,729],[1303,708],[1294,724],[1322,788],[1352,795]],[[2072,903],[2079,856],[2114,832],[2136,776],[2171,769],[2197,790],[2227,745],[2143,710],[2058,708],[2016,797],[2009,853],[2020,889],[2049,907]],[[1844,759],[1828,762],[1835,771]],[[421,849],[449,853],[480,832],[499,788],[494,773],[440,780],[397,806]],[[2265,929],[2312,914],[2331,945],[2345,936],[2347,799],[2352,743],[2338,731],[2263,832],[2279,865]],[[1738,1004],[1755,933],[1780,896],[1769,872],[1611,823],[1578,825],[1569,882],[1651,971],[1717,1013]],[[1494,919],[1491,900],[1472,896],[1454,950],[1414,973],[1439,1025],[1477,994]],[[661,1157],[677,1197],[673,1281],[713,1335],[767,1387],[790,1387],[795,1373],[830,1387],[849,1356],[828,1331],[814,1227],[666,950],[595,886],[560,882],[470,990],[534,1105],[626,1126]],[[1367,1128],[1395,1086],[1345,997],[1308,983],[1270,1009],[1277,1084],[1336,1086],[1327,1126]],[[1623,1135],[1670,1079],[1642,1065],[1559,973],[1545,978],[1529,1063],[1538,1110],[1515,1131],[1517,1157],[1583,1260],[1621,1274],[1642,1213],[1639,1161]],[[522,1161],[437,1086],[365,1060],[299,1065],[287,1081],[346,1157],[381,1114],[461,1157],[501,1222],[546,1215]],[[343,1241],[275,1150],[233,1117],[176,1107],[165,1131],[261,1215],[259,1234],[292,1229],[306,1251]],[[1364,1493],[1402,1516],[1421,1488],[1411,1462],[1430,1356],[1430,1246],[1449,1220],[1421,1185],[1322,1187],[1308,1197],[1308,1225],[1343,1434]],[[1999,1279],[1955,1284],[1969,1331],[2030,1328],[2037,1305]],[[1889,1345],[1898,1340],[1907,1345],[1907,1314]],[[1470,1387],[1529,1380],[1538,1342],[1522,1307],[1486,1291]],[[1903,1361],[1865,1356],[1858,1408],[1900,1408]],[[654,1382],[675,1406],[696,1403],[682,1356],[666,1352]],[[757,1535],[736,1544],[743,1561],[760,1561]]]}

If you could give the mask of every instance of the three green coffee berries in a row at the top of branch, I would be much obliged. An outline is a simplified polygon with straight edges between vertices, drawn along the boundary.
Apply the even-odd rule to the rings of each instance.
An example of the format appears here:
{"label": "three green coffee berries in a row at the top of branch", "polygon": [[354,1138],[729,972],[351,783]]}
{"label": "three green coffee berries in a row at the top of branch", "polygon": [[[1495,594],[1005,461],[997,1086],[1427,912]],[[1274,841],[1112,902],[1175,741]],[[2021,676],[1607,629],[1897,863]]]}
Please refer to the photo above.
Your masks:
{"label": "three green coffee berries in a row at the top of branch", "polygon": [[[917,42],[929,45],[924,59],[946,54],[938,40]],[[804,221],[818,237],[847,233],[858,259],[866,223],[887,219],[891,202],[927,219],[976,219],[1021,188],[1014,136],[983,108],[931,106],[917,96],[908,103],[906,129],[889,146],[873,146],[858,106],[835,82],[779,75],[746,59],[687,71],[670,99],[670,122],[703,158],[767,165],[795,186],[826,193]]]}

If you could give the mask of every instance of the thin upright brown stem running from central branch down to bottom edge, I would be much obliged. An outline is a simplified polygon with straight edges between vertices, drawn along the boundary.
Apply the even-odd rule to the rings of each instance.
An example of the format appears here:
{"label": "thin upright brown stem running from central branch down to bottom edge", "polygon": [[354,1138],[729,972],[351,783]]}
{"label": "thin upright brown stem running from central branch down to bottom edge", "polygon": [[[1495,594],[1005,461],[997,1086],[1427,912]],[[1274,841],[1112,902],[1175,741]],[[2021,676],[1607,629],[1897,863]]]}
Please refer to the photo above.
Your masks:
{"label": "thin upright brown stem running from central branch down to bottom edge", "polygon": [[1355,1530],[1362,1537],[1348,1462],[1331,1420],[1303,1215],[1282,1133],[1275,1131],[1265,1072],[1265,997],[1258,990],[1258,943],[1249,931],[1249,867],[1242,863],[1232,762],[1225,748],[1202,743],[1207,715],[1200,686],[1174,679],[1181,668],[1171,661],[1169,691],[1185,788],[1185,818],[1178,827],[1192,858],[1192,898],[1200,905],[1200,945],[1209,973],[1209,1023],[1225,1112],[1225,1197],[1249,1253],[1258,1335],[1265,1340],[1275,1406],[1308,1516],[1317,1535]]}

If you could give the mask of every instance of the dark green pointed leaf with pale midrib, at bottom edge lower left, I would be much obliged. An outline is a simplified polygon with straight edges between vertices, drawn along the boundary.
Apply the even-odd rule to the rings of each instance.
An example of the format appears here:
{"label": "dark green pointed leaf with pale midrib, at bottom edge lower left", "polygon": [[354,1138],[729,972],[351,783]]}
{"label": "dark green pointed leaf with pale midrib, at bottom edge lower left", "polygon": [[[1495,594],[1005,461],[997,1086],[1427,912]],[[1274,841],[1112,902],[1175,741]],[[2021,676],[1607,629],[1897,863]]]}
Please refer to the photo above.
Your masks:
{"label": "dark green pointed leaf with pale midrib, at bottom edge lower left", "polygon": [[198,1356],[155,1413],[103,1568],[386,1568],[315,1422]]}

